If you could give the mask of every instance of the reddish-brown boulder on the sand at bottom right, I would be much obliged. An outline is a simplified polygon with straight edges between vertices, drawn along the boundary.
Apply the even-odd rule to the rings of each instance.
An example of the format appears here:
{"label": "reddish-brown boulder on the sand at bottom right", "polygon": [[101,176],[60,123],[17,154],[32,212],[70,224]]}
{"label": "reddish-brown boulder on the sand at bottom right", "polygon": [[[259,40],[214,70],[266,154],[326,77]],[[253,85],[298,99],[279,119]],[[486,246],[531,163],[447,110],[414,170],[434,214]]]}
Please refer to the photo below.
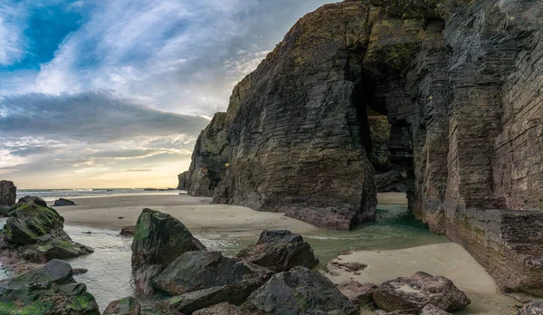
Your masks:
{"label": "reddish-brown boulder on the sand at bottom right", "polygon": [[384,282],[374,291],[373,299],[379,309],[387,311],[422,311],[428,304],[440,310],[454,311],[471,303],[452,281],[425,272],[416,272],[411,278],[400,277]]}

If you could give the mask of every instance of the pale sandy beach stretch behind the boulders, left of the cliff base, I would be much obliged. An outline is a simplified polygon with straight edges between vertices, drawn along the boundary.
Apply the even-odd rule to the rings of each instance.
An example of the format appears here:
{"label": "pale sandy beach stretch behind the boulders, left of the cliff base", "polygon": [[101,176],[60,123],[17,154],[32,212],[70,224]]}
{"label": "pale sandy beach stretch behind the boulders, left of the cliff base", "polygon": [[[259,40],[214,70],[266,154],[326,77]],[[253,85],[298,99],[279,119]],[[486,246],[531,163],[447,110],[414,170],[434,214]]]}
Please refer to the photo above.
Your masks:
{"label": "pale sandy beach stretch behind the boulders, left of the cliff base", "polygon": [[[104,228],[135,225],[144,208],[173,215],[196,234],[253,236],[265,229],[308,234],[319,229],[282,214],[253,211],[243,206],[211,205],[211,198],[186,195],[106,196],[74,199],[75,206],[56,209],[66,224]],[[120,218],[121,217],[121,218]]]}

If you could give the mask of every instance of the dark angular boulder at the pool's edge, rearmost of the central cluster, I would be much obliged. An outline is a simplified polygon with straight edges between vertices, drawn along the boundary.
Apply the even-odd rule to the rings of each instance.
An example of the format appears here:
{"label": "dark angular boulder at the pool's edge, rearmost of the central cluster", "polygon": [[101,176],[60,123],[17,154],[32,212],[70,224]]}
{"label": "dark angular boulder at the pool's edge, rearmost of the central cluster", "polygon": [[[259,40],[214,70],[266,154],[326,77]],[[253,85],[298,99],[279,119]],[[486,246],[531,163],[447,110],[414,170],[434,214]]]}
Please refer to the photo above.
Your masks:
{"label": "dark angular boulder at the pool's edge, rearmost of the central cluster", "polygon": [[319,263],[309,243],[290,231],[263,231],[258,242],[237,254],[237,258],[266,267],[273,272],[287,272],[296,266],[313,268]]}

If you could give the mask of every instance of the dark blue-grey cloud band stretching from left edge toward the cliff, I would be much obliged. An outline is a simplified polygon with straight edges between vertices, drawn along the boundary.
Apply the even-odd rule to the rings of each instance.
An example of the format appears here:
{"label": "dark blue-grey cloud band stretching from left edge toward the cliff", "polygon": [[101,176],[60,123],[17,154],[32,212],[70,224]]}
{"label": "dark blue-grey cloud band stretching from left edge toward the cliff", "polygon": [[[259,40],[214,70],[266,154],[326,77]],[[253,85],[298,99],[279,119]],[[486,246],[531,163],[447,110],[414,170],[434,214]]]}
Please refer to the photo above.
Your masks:
{"label": "dark blue-grey cloud band stretching from left edge toward the cliff", "polygon": [[90,143],[140,136],[195,135],[209,122],[155,110],[110,93],[24,94],[0,99],[0,133]]}

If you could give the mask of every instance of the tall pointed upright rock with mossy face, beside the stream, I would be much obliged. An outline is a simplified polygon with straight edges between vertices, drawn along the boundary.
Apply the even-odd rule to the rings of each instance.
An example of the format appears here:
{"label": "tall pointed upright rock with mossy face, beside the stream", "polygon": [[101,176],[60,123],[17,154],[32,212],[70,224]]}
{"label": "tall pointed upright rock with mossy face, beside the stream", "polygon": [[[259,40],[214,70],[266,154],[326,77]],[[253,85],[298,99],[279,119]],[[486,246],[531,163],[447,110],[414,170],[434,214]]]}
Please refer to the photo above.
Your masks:
{"label": "tall pointed upright rock with mossy face, beside the stream", "polygon": [[151,209],[139,215],[131,248],[134,284],[145,294],[153,292],[152,279],[179,255],[205,250],[176,218]]}

